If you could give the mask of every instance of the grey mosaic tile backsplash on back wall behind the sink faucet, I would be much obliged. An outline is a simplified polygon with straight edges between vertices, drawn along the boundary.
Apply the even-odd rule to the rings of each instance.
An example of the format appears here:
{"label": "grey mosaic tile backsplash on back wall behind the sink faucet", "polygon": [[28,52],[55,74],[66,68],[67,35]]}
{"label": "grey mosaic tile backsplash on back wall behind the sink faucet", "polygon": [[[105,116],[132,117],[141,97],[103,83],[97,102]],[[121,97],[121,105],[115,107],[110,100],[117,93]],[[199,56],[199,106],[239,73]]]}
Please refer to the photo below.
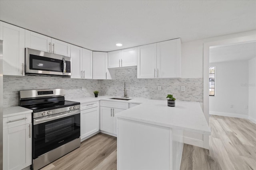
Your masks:
{"label": "grey mosaic tile backsplash on back wall behind the sink faucet", "polygon": [[[138,79],[137,68],[115,70],[115,78],[100,80],[100,95],[124,96],[126,82],[129,97],[166,100],[167,94],[173,94],[177,100],[203,102],[203,78]],[[185,86],[184,92],[180,86]]]}

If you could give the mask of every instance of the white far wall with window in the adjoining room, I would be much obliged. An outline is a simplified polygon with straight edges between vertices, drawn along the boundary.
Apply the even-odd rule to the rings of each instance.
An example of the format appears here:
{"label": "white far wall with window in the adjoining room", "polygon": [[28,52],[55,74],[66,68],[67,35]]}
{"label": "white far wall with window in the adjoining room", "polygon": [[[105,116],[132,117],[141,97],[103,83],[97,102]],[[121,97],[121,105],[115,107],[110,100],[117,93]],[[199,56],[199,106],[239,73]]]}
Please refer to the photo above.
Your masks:
{"label": "white far wall with window in the adjoining room", "polygon": [[209,98],[210,114],[248,118],[248,61],[210,63],[210,66],[216,66],[216,92]]}

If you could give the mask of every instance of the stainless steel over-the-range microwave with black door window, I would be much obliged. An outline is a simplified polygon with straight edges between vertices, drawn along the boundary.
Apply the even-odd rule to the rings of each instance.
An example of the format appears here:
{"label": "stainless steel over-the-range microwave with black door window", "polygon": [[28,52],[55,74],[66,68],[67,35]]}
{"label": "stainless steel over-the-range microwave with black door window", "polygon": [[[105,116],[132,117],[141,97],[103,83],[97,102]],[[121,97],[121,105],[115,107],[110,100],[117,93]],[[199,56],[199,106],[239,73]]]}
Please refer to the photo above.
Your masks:
{"label": "stainless steel over-the-range microwave with black door window", "polygon": [[25,74],[71,76],[71,58],[26,48]]}

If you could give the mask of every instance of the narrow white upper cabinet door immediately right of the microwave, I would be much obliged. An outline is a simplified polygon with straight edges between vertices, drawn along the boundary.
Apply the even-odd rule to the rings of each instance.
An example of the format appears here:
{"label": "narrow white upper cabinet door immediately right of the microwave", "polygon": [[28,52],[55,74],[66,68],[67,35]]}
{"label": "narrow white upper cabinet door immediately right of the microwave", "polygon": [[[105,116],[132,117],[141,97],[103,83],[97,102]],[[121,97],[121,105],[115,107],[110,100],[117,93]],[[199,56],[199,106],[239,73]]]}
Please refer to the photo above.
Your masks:
{"label": "narrow white upper cabinet door immediately right of the microwave", "polygon": [[82,48],[71,45],[71,78],[82,78],[82,71],[80,69],[80,57],[82,56]]}

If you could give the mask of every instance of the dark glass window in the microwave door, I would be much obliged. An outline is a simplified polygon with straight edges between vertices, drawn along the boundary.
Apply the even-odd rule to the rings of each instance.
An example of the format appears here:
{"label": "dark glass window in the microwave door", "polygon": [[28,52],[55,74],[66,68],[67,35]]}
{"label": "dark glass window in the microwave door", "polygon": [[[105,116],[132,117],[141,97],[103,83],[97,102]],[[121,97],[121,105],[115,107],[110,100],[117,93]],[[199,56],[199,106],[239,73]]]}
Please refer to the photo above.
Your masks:
{"label": "dark glass window in the microwave door", "polygon": [[30,70],[62,72],[62,60],[30,55]]}

